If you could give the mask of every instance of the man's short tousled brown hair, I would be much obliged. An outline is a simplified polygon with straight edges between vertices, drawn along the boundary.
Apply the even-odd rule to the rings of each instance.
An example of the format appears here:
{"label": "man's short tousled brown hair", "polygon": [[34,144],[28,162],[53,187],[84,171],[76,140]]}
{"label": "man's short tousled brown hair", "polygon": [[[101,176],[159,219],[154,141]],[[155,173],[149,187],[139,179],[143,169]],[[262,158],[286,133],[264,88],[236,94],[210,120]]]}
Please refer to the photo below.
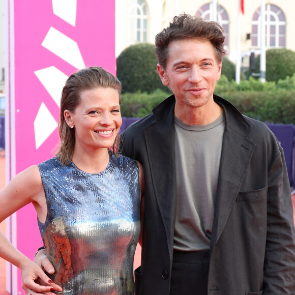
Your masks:
{"label": "man's short tousled brown hair", "polygon": [[181,14],[174,16],[169,26],[156,35],[156,55],[158,63],[166,69],[168,59],[168,46],[174,40],[200,39],[209,40],[213,46],[215,57],[218,63],[222,61],[225,54],[224,31],[216,21],[206,21],[198,16]]}

